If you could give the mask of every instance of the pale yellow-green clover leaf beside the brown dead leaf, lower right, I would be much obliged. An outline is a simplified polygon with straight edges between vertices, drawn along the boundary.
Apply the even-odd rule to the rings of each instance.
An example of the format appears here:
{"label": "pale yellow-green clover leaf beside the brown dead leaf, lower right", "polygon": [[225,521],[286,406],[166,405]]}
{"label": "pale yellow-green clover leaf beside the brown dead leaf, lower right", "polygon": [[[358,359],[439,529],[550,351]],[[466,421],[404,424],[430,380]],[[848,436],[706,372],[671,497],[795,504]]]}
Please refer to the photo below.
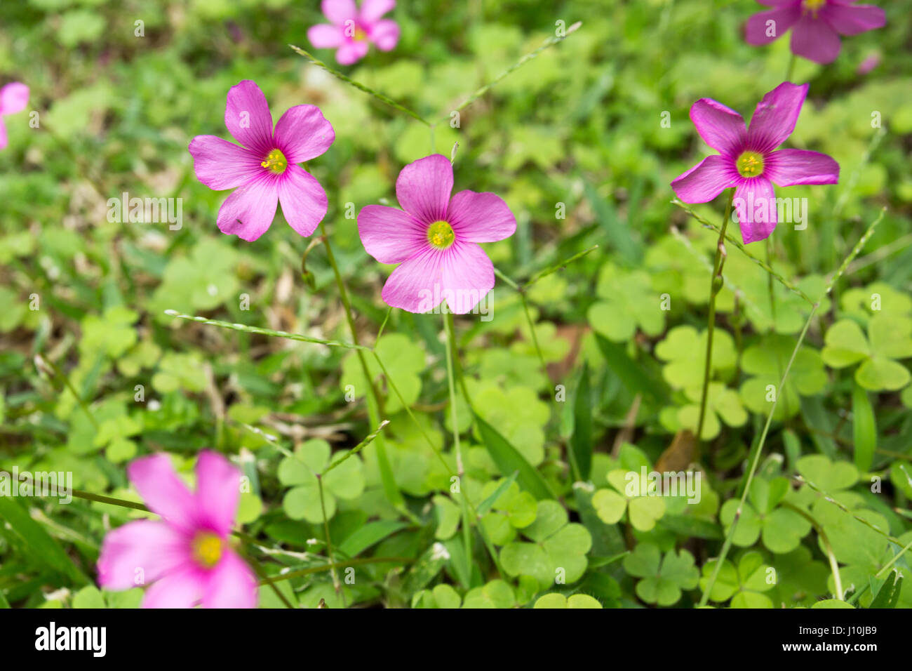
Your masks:
{"label": "pale yellow-green clover leaf beside the brown dead leaf, lower right", "polygon": [[634,529],[648,531],[665,514],[665,501],[659,496],[657,483],[641,472],[617,469],[608,473],[611,489],[599,489],[592,495],[596,515],[606,524],[616,524],[627,512]]}

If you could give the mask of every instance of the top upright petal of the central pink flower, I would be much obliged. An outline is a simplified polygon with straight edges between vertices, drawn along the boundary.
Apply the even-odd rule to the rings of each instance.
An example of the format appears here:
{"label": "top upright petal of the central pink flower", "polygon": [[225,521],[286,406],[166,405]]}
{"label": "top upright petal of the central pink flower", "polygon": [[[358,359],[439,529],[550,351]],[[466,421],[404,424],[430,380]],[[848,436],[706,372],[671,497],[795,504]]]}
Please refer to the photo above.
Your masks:
{"label": "top upright petal of the central pink flower", "polygon": [[402,168],[396,179],[396,197],[402,209],[422,224],[447,218],[453,190],[450,159],[435,153]]}

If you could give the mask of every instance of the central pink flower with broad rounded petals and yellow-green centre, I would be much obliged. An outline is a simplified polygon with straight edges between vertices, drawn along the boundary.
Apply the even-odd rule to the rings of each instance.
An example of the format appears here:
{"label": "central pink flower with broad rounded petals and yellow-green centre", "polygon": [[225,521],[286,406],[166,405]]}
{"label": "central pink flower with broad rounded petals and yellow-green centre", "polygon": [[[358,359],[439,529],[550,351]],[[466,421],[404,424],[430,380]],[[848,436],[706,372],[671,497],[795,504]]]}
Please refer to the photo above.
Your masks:
{"label": "central pink flower with broad rounded petals and yellow-green centre", "polygon": [[401,264],[383,287],[388,305],[427,312],[446,299],[465,314],[494,287],[494,267],[478,243],[512,236],[516,218],[498,195],[461,191],[451,198],[452,187],[450,161],[435,153],[399,173],[401,210],[368,205],[358,213],[368,254]]}

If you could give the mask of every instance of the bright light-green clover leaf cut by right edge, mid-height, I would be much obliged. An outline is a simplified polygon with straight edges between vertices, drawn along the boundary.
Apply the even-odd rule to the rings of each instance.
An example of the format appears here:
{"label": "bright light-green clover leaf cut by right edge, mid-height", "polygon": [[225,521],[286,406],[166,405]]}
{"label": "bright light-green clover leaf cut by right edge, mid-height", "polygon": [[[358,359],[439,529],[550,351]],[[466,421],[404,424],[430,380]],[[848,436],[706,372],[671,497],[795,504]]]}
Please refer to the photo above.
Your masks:
{"label": "bright light-green clover leaf cut by right edge, mid-height", "polygon": [[839,320],[824,339],[821,354],[830,368],[861,363],[855,382],[872,392],[902,389],[909,383],[905,366],[896,360],[912,357],[912,319],[877,314],[867,324],[867,337],[853,320]]}

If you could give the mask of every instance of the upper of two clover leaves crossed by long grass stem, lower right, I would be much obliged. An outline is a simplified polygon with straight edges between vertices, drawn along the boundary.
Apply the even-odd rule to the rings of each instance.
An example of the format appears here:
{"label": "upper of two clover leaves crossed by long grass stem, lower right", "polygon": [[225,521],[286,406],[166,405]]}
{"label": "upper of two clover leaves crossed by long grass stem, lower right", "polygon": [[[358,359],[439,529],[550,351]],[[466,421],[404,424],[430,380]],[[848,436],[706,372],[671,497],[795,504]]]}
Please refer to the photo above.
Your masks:
{"label": "upper of two clover leaves crossed by long grass stem, lower right", "polygon": [[[731,542],[746,548],[762,536],[763,545],[776,554],[798,547],[811,530],[811,523],[795,510],[780,506],[788,492],[789,481],[784,477],[774,477],[769,482],[755,478]],[[726,533],[740,503],[740,499],[731,498],[722,505],[719,519]]]}

